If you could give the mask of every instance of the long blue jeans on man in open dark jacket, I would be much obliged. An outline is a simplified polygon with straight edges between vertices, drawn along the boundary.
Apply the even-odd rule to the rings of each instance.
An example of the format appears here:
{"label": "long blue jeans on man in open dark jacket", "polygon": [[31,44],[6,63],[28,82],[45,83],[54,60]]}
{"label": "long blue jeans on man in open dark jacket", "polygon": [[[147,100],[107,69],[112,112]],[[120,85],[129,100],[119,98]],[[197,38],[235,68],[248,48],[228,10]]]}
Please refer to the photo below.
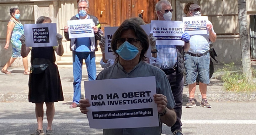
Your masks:
{"label": "long blue jeans on man in open dark jacket", "polygon": [[73,102],[79,103],[81,98],[81,81],[82,81],[82,62],[85,59],[88,79],[96,79],[95,52],[75,52],[73,55],[73,75],[74,75],[74,97]]}

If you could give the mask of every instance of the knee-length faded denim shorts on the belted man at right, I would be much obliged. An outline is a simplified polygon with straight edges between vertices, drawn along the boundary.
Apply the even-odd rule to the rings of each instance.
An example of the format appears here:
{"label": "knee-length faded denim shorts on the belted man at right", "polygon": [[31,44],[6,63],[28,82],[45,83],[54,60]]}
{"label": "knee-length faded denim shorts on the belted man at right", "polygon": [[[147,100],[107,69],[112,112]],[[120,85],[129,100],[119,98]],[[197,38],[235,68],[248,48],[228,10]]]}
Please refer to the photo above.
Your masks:
{"label": "knee-length faded denim shorts on the belted man at right", "polygon": [[199,82],[209,84],[210,54],[196,57],[189,54],[185,55],[186,82],[187,84],[196,83],[197,73]]}

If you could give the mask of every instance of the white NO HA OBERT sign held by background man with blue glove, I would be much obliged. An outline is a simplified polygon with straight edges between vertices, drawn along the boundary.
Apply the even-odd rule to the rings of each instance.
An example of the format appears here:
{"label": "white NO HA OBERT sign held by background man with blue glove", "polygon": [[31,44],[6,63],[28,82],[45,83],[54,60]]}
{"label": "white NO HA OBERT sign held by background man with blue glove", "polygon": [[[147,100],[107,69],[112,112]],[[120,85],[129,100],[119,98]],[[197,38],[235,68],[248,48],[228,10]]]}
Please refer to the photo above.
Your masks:
{"label": "white NO HA OBERT sign held by background man with blue glove", "polygon": [[151,33],[156,37],[156,45],[184,45],[181,21],[151,21]]}

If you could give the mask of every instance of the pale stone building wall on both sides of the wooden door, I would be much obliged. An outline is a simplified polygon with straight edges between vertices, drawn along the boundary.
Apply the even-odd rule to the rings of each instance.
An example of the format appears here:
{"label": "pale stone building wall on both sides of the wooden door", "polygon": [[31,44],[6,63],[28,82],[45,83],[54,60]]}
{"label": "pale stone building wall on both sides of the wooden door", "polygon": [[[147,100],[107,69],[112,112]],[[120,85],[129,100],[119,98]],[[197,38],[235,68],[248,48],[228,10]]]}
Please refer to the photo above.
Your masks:
{"label": "pale stone building wall on both sides of the wooden door", "polygon": [[[182,21],[183,8],[187,2],[202,6],[203,15],[207,15],[217,33],[217,41],[213,48],[217,59],[224,63],[241,63],[241,47],[238,29],[237,0],[169,0],[174,9],[173,18]],[[256,14],[256,0],[247,0],[248,29],[249,15]],[[35,23],[39,16],[48,16],[57,23],[57,32],[64,35],[63,29],[67,21],[77,13],[77,0],[1,0],[0,1],[0,67],[10,59],[12,48],[5,50],[7,23],[10,19],[9,9],[18,7],[21,12],[21,23]],[[249,30],[250,31],[250,30]],[[71,53],[69,41],[63,38],[64,54]],[[56,55],[57,56],[57,55]],[[30,55],[28,56],[30,59]],[[22,66],[22,59],[16,60],[12,66]],[[60,57],[57,56],[57,61]],[[29,62],[30,63],[30,62]]]}

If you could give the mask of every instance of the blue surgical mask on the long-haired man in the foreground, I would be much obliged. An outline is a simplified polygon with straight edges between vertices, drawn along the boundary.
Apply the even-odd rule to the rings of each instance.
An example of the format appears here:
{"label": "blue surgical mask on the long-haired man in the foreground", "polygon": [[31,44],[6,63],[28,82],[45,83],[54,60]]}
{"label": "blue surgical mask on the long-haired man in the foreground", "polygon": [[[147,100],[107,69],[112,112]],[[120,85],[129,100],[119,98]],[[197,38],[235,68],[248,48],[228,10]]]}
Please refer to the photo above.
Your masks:
{"label": "blue surgical mask on the long-haired man in the foreground", "polygon": [[124,60],[129,61],[134,59],[137,56],[137,54],[139,53],[139,50],[134,45],[125,41],[122,45],[118,47],[118,49],[116,50],[116,53]]}

